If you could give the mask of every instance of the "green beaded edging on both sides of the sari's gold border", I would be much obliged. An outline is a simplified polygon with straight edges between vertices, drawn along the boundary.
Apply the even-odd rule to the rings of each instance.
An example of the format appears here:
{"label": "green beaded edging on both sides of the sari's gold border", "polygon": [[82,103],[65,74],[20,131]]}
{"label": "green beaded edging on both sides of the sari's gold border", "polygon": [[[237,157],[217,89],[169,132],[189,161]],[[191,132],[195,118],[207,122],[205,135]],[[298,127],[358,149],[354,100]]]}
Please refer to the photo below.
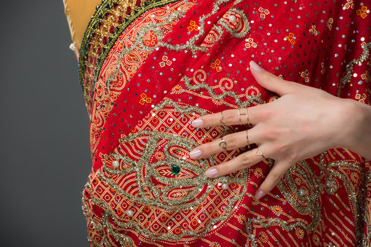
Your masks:
{"label": "green beaded edging on both sides of the sari's gold border", "polygon": [[[180,0],[149,0],[142,5],[136,6],[136,8],[134,8],[134,10],[132,10],[131,13],[123,19],[123,22],[120,25],[118,25],[118,27],[116,27],[116,30],[114,30],[114,34],[112,34],[113,37],[109,38],[109,40],[105,44],[105,47],[103,47],[103,50],[100,52],[99,58],[97,58],[96,68],[94,69],[92,93],[94,92],[95,83],[98,78],[100,69],[103,66],[103,62],[105,61],[105,58],[107,57],[109,51],[116,43],[118,37],[126,30],[126,28],[139,16],[141,16],[148,10],[162,7],[163,5],[167,5],[169,3],[175,3],[177,1]],[[83,91],[85,91],[84,89],[85,61],[87,58],[87,51],[89,49],[90,42],[92,41],[94,32],[96,31],[100,23],[102,23],[105,20],[105,15],[107,14],[107,12],[109,12],[109,10],[112,9],[114,7],[114,4],[117,2],[118,0],[103,0],[103,2],[96,9],[94,16],[92,16],[92,19],[90,20],[89,25],[87,27],[87,30],[85,30],[84,38],[80,47],[80,56],[78,60],[78,73],[80,78],[80,84]]]}

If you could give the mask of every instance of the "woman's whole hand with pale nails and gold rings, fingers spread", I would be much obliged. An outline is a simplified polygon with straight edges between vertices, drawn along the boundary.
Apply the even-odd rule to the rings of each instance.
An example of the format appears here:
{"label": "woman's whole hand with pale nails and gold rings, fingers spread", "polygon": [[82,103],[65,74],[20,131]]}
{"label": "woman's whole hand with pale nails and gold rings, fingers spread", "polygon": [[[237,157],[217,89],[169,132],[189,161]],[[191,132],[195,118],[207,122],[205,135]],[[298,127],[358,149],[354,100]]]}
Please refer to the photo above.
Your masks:
{"label": "woman's whole hand with pale nails and gold rings, fingers spread", "polygon": [[[191,158],[204,158],[226,150],[242,148],[255,143],[258,148],[249,150],[230,161],[215,165],[206,170],[205,175],[217,177],[244,169],[264,160],[273,158],[275,164],[264,182],[255,193],[262,198],[271,191],[297,161],[315,156],[330,148],[346,148],[355,142],[354,129],[359,126],[357,107],[350,99],[341,99],[325,91],[288,82],[261,69],[250,62],[251,73],[259,85],[277,93],[280,97],[274,102],[246,109],[224,110],[222,113],[205,115],[192,122],[197,128],[247,124],[253,128],[248,132],[228,134],[221,140],[200,145],[190,152]],[[370,112],[370,107],[368,106]],[[240,111],[240,117],[239,113]],[[358,116],[358,117],[357,117]],[[248,141],[246,139],[248,135]],[[370,138],[369,138],[370,139]],[[371,141],[371,140],[369,140]]]}

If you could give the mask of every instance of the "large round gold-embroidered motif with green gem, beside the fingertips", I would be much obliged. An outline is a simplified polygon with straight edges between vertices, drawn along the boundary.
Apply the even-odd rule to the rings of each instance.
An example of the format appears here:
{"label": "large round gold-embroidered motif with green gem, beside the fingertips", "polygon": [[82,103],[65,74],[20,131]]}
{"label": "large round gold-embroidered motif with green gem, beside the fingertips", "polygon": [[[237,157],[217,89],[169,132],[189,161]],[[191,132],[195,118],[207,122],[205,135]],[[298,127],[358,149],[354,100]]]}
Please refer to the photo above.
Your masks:
{"label": "large round gold-embroidered motif with green gem, beside the fingertips", "polygon": [[[168,106],[174,108],[168,108]],[[195,119],[200,114],[205,114],[204,110],[193,106],[179,106],[169,100],[165,100],[165,102],[153,108],[152,113],[154,114],[150,114],[149,119],[145,120],[148,124],[152,122],[152,119],[156,119],[156,115],[162,116],[162,113],[169,115],[180,113],[187,118],[186,121],[190,121],[190,118]],[[169,119],[166,116],[162,116],[162,118]],[[173,118],[175,119],[175,117]],[[146,128],[146,124],[142,125],[141,128]],[[161,129],[159,128],[158,130]],[[228,156],[218,154],[201,161],[193,161],[189,159],[187,154],[192,147],[195,147],[195,141],[181,137],[176,132],[163,133],[158,132],[158,130],[156,130],[156,127],[153,128],[153,131],[138,129],[138,132],[129,134],[121,140],[120,146],[116,148],[113,154],[105,156],[102,169],[96,172],[96,178],[94,179],[97,183],[99,181],[98,187],[94,185],[94,179],[92,184],[87,185],[87,188],[90,188],[89,193],[94,195],[92,202],[105,209],[101,224],[109,224],[110,233],[115,238],[117,237],[116,240],[120,242],[129,240],[123,239],[123,236],[116,232],[114,228],[134,228],[138,233],[142,233],[149,239],[178,240],[186,235],[204,236],[216,228],[216,224],[224,224],[223,221],[231,215],[233,210],[237,209],[235,202],[240,202],[246,194],[248,185],[246,180],[249,176],[247,171],[237,172],[233,176],[222,176],[212,179],[204,176],[204,171],[214,163],[215,158],[220,163],[225,158],[231,158],[231,155],[237,154],[237,150]],[[214,132],[215,130],[210,131]],[[158,147],[162,148],[158,149]],[[154,159],[158,157],[158,152],[163,152],[165,159]],[[119,165],[113,165],[113,161],[118,161]],[[182,167],[182,173],[174,177],[169,172],[162,172],[169,169],[167,165],[169,163]],[[125,180],[123,180],[124,176]],[[157,183],[162,186],[153,186],[153,180],[158,181]],[[222,189],[222,183],[230,185],[233,190],[226,191]],[[99,189],[100,187],[102,189]],[[94,192],[99,190],[99,193]],[[114,191],[114,195],[120,197],[120,200],[118,200],[119,204],[116,204],[112,196],[105,196],[103,191],[108,192],[108,190],[111,191],[109,194],[112,194],[112,191]],[[216,196],[209,203],[218,204],[218,208],[225,204],[224,210],[215,211],[214,209],[213,212],[208,213],[207,205],[203,203],[206,196],[215,193],[221,198],[218,199],[218,196]],[[102,194],[99,197],[100,200],[95,198],[99,194]],[[127,200],[123,200],[123,198],[127,198]],[[111,206],[113,203],[115,205]],[[145,211],[147,205],[154,207],[156,210],[145,213],[145,218],[149,217],[152,219],[153,215],[158,215],[153,218],[151,225],[146,225],[146,221],[140,220],[140,215],[143,214],[142,212]],[[196,210],[201,205],[205,210],[207,209],[203,213]],[[113,212],[112,208],[116,209],[116,212]],[[117,209],[120,209],[120,212],[117,212]],[[120,215],[125,215],[125,210],[127,209],[134,211],[134,217],[129,222],[127,220],[122,222]],[[187,224],[187,227],[182,226],[181,231],[177,225],[167,224],[167,222],[172,222],[172,217],[178,217],[176,215],[182,214],[182,211],[187,210],[195,211],[197,215],[200,215],[201,219],[204,217],[202,215],[206,213],[209,220],[196,221],[193,225]],[[163,225],[156,230],[153,228],[154,224],[156,224],[154,219],[161,218],[161,215],[165,215],[164,219],[167,221],[163,222]],[[109,219],[113,220],[114,226],[109,222]],[[134,219],[139,220],[134,222]],[[187,219],[186,222],[188,221]]]}

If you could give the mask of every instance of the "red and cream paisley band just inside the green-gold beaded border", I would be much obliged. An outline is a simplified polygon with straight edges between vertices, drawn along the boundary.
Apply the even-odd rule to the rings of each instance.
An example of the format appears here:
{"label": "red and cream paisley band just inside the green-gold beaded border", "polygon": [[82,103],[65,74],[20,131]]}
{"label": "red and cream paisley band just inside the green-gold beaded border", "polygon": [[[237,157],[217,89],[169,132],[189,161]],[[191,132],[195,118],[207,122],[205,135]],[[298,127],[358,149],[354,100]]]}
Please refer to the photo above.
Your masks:
{"label": "red and cream paisley band just inside the green-gold beaded border", "polygon": [[[134,25],[128,30],[129,37],[125,35],[123,40],[118,40],[116,45],[118,54],[114,55],[117,62],[112,66],[105,67],[96,82],[92,112],[92,134],[90,137],[92,156],[95,155],[96,145],[98,144],[101,128],[103,128],[108,116],[107,113],[112,110],[114,102],[123,92],[127,81],[134,75],[138,67],[145,62],[145,52],[150,53],[153,49],[156,49],[156,45],[153,46],[152,43],[149,43],[149,47],[146,46],[148,42],[145,37],[153,37],[152,40],[155,40],[154,37],[156,36],[157,39],[162,39],[171,30],[171,26],[176,23],[179,15],[184,14],[184,11],[193,5],[193,1],[179,2],[171,4],[169,9],[160,8],[151,11],[145,14],[145,18],[150,19],[153,23],[150,21],[149,23]],[[162,18],[164,9],[169,16],[167,19]],[[131,43],[131,45],[126,47],[127,43]]]}

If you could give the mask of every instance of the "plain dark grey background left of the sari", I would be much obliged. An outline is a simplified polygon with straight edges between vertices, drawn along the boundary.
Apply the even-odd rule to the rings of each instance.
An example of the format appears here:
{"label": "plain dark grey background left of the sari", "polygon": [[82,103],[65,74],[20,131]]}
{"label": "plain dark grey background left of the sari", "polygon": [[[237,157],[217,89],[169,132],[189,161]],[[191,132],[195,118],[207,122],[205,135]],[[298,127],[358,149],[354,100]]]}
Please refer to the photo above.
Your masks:
{"label": "plain dark grey background left of the sari", "polygon": [[1,1],[0,246],[89,246],[89,117],[62,0]]}

